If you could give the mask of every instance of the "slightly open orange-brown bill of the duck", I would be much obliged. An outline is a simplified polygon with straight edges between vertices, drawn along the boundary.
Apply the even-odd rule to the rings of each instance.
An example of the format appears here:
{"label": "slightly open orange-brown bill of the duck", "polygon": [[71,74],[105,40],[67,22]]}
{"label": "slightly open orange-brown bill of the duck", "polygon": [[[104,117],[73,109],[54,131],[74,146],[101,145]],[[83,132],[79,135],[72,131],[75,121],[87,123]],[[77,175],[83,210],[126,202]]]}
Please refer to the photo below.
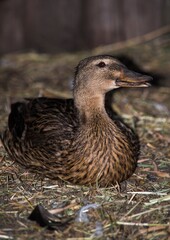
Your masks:
{"label": "slightly open orange-brown bill of the duck", "polygon": [[149,87],[151,86],[150,81],[152,81],[152,77],[126,69],[116,80],[116,85],[119,87]]}

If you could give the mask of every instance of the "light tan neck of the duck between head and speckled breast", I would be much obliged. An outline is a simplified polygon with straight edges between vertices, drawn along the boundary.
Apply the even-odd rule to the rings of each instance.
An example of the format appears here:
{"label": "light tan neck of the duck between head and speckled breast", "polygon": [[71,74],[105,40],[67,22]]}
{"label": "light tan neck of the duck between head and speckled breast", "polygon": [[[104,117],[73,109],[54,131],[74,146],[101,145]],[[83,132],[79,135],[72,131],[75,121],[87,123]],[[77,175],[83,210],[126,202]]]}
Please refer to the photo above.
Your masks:
{"label": "light tan neck of the duck between head and speckled breast", "polygon": [[74,102],[78,109],[80,122],[83,124],[91,121],[93,116],[107,116],[105,110],[105,96],[96,94],[90,90],[74,91]]}

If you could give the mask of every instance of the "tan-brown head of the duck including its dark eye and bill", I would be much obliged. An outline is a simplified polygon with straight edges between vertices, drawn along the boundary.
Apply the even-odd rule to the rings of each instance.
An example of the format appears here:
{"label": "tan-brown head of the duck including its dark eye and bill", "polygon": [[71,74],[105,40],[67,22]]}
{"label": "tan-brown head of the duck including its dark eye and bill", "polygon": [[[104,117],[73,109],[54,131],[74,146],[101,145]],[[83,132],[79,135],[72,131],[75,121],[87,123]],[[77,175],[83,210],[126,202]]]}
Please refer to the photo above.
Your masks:
{"label": "tan-brown head of the duck including its dark eye and bill", "polygon": [[105,94],[119,87],[148,87],[152,77],[129,70],[109,55],[85,58],[76,68],[74,88]]}

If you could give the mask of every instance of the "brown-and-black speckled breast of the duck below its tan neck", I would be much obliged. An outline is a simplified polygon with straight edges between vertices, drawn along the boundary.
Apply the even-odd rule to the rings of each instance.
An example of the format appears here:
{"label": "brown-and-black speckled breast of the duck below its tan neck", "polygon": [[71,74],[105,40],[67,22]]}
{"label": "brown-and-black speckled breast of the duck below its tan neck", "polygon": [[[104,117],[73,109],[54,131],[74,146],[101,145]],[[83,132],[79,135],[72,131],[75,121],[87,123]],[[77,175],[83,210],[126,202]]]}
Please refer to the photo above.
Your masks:
{"label": "brown-and-black speckled breast of the duck below its tan neck", "polygon": [[139,143],[134,133],[126,129],[123,123],[113,122],[111,119],[106,121],[99,114],[94,117],[96,119],[92,119],[87,128],[82,128],[77,135],[77,141],[73,142],[72,148],[77,164],[70,160],[66,165],[72,173],[66,180],[85,185],[114,185],[127,179],[134,172]]}

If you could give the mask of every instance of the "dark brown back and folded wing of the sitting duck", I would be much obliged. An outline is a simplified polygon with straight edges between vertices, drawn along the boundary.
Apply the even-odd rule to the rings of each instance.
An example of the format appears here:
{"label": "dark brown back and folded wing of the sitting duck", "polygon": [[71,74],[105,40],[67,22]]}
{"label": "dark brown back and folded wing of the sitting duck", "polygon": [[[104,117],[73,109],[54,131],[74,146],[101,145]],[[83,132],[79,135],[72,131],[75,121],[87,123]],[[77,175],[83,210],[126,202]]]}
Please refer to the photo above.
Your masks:
{"label": "dark brown back and folded wing of the sitting duck", "polygon": [[74,137],[76,116],[72,99],[36,98],[14,103],[2,142],[10,157],[24,166],[34,161],[31,156],[42,161],[59,157]]}

